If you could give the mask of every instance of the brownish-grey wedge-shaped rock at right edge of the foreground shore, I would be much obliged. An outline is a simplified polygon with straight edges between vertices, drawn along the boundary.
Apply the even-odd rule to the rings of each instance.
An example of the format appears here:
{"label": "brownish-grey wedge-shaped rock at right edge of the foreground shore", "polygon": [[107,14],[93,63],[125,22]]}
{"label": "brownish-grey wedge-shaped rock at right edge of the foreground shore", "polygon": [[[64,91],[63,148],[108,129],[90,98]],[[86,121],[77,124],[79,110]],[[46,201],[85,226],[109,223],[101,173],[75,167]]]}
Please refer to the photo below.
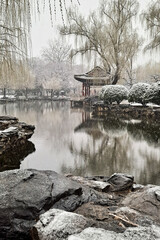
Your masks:
{"label": "brownish-grey wedge-shaped rock at right edge of the foreground shore", "polygon": [[141,214],[151,216],[160,223],[159,186],[148,185],[143,189],[128,194],[122,204],[139,211]]}

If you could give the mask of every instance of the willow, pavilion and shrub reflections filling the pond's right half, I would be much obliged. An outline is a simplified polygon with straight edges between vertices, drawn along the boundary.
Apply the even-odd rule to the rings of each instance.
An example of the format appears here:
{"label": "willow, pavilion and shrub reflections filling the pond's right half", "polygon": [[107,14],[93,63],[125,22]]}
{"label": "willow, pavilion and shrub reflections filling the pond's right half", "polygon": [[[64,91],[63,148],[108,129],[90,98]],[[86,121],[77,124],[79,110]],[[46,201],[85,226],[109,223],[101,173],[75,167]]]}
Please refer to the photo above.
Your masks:
{"label": "willow, pavilion and shrub reflections filling the pond's right half", "polygon": [[[87,133],[87,141],[80,141],[79,145],[70,141],[70,152],[75,160],[74,169],[63,165],[62,172],[107,176],[114,172],[127,172],[135,175],[136,181],[140,183],[157,181],[160,161],[154,153],[158,149],[150,146],[150,142],[157,137],[158,125],[127,123],[113,118],[104,121],[89,119],[75,129],[76,132],[83,130]],[[149,151],[146,151],[147,148]],[[142,164],[137,164],[139,161]]]}

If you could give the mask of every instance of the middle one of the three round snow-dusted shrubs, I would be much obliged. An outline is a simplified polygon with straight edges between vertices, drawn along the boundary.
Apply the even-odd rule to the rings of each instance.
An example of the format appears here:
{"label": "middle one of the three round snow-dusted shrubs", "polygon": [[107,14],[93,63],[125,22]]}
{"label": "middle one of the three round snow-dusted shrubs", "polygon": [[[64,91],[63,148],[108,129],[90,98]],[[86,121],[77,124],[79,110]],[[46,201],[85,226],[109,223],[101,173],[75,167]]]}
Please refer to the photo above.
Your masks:
{"label": "middle one of the three round snow-dusted shrubs", "polygon": [[136,103],[144,103],[144,95],[150,87],[147,83],[136,83],[129,91],[128,101]]}

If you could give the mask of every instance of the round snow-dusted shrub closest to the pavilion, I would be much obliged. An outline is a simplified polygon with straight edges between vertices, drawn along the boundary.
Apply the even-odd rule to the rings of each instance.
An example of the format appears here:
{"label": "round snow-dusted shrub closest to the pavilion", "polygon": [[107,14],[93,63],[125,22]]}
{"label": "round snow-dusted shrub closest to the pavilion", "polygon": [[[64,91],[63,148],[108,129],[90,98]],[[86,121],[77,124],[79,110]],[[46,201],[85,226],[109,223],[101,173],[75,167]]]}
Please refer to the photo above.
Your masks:
{"label": "round snow-dusted shrub closest to the pavilion", "polygon": [[106,85],[103,100],[107,104],[117,102],[118,104],[128,97],[128,89],[122,85]]}

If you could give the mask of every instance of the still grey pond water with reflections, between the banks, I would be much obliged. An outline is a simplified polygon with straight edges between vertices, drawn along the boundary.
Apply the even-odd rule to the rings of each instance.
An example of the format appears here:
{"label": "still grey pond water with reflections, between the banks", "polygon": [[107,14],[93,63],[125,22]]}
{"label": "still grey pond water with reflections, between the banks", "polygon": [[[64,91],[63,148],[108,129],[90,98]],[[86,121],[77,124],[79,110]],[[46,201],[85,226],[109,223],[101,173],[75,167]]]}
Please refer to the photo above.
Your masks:
{"label": "still grey pond water with reflections, between the banks", "polygon": [[0,114],[36,127],[30,150],[16,156],[21,169],[81,176],[122,172],[137,183],[160,184],[160,123],[93,119],[69,102],[1,104]]}

